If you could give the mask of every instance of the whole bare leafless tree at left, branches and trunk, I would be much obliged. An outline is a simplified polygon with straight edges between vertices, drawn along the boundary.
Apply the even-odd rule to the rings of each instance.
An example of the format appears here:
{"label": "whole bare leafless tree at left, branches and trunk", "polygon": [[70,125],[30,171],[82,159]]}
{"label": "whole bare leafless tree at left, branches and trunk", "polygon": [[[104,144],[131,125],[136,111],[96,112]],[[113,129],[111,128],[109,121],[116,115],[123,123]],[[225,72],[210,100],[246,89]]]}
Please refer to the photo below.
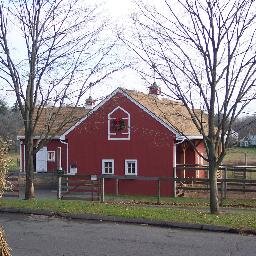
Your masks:
{"label": "whole bare leafless tree at left, branches and trunk", "polygon": [[[33,155],[73,117],[69,113],[52,131],[58,111],[71,102],[76,107],[88,88],[120,69],[111,56],[115,40],[97,12],[81,0],[14,0],[0,6],[0,78],[14,91],[24,123],[26,199],[34,197]],[[35,145],[46,106],[54,115]]]}

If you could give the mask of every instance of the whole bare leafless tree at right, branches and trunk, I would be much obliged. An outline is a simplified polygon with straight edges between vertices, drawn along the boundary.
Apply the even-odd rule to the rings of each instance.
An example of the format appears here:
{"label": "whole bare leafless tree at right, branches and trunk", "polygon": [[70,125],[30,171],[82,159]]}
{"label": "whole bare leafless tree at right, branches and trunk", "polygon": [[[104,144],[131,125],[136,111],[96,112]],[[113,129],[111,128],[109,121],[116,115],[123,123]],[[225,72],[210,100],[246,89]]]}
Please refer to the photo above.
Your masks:
{"label": "whole bare leafless tree at right, branches and trunk", "polygon": [[[157,8],[136,2],[137,40],[123,40],[155,69],[169,96],[182,101],[202,134],[209,163],[210,210],[218,213],[216,172],[232,124],[255,98],[256,3],[163,0]],[[203,122],[205,113],[208,125]]]}

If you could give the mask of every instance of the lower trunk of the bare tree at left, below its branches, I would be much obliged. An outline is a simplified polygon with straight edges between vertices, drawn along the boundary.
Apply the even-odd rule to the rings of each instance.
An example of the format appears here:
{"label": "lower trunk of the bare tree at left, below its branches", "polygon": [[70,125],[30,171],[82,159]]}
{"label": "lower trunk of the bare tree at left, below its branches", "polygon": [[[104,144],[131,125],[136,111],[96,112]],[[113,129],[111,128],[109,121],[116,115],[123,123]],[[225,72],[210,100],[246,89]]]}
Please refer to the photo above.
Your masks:
{"label": "lower trunk of the bare tree at left, below its branches", "polygon": [[26,187],[25,187],[25,199],[32,199],[35,197],[34,193],[34,150],[33,150],[33,138],[27,136],[25,141],[25,171],[26,171]]}

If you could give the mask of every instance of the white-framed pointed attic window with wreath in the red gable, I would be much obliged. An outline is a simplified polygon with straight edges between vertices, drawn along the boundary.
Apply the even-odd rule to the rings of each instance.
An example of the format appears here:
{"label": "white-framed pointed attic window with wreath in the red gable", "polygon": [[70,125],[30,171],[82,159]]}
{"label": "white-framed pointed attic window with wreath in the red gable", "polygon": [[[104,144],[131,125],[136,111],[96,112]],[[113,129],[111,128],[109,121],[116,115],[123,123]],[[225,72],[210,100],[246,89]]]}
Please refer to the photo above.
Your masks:
{"label": "white-framed pointed attic window with wreath in the red gable", "polygon": [[108,140],[130,140],[130,114],[121,107],[108,114]]}

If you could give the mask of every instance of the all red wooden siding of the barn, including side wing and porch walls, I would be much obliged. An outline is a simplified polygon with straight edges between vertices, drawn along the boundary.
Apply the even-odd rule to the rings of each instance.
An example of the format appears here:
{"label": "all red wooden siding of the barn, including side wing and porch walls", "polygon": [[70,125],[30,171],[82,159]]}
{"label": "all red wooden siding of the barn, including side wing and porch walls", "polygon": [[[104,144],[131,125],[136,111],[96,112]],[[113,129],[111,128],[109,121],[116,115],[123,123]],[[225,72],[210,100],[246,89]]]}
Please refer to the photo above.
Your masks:
{"label": "all red wooden siding of the barn, including side wing and porch walls", "polygon": [[[125,161],[136,160],[138,176],[173,177],[175,134],[151,116],[146,109],[139,107],[124,94],[117,93],[93,111],[65,136],[67,144],[60,142],[59,139],[53,139],[47,144],[47,150],[55,152],[55,161],[47,161],[48,172],[56,171],[57,149],[61,147],[61,166],[65,172],[69,172],[70,166],[73,166],[74,169],[77,168],[77,174],[101,175],[102,160],[110,159],[114,161],[114,175],[125,176]],[[201,140],[178,143],[177,164],[203,164],[201,156],[191,143],[204,154],[205,149]],[[23,168],[23,145],[21,160]],[[177,176],[203,178],[205,172],[177,170]],[[120,194],[157,194],[157,181],[135,180],[129,175],[127,177],[129,180],[119,180]],[[107,193],[115,193],[115,180],[106,179],[105,189]],[[173,182],[161,181],[161,195],[173,195]]]}

